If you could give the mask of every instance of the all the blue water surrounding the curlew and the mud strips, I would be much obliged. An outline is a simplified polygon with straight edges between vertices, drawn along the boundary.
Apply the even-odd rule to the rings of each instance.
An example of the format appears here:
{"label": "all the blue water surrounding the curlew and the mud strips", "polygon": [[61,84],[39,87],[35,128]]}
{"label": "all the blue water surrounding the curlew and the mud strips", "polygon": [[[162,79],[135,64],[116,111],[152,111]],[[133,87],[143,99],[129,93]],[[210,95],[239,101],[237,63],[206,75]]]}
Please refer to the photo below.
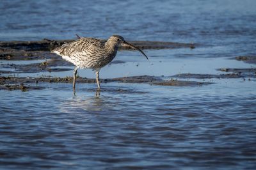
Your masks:
{"label": "all the blue water surrounding the curlew and the mud strips", "polygon": [[[101,76],[170,76],[254,68],[255,1],[1,1],[0,40],[106,38],[195,42],[196,49],[118,52]],[[4,63],[20,61],[1,61]],[[26,63],[27,61],[22,61]],[[33,61],[34,62],[34,61]],[[36,61],[35,61],[36,62]],[[117,71],[118,70],[118,71]],[[72,72],[20,76],[70,76]],[[82,77],[93,72],[79,70]],[[207,86],[42,83],[0,90],[0,169],[255,169],[255,79]]]}

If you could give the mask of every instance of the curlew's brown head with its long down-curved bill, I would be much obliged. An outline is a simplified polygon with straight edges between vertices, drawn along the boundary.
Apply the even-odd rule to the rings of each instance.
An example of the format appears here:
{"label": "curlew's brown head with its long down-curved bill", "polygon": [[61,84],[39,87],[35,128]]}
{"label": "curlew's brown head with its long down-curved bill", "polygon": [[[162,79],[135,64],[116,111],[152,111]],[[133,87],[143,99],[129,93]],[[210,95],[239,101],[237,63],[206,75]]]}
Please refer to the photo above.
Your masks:
{"label": "curlew's brown head with its long down-curved bill", "polygon": [[143,54],[143,56],[145,56],[148,59],[146,54],[141,49],[139,49],[138,47],[132,45],[131,43],[125,42],[124,38],[122,36],[120,36],[120,35],[110,36],[109,39],[108,39],[108,42],[110,42],[115,47],[120,47],[122,45],[125,45],[125,46],[128,46],[128,47],[131,47],[132,49],[136,49],[136,50],[140,51],[141,54]]}

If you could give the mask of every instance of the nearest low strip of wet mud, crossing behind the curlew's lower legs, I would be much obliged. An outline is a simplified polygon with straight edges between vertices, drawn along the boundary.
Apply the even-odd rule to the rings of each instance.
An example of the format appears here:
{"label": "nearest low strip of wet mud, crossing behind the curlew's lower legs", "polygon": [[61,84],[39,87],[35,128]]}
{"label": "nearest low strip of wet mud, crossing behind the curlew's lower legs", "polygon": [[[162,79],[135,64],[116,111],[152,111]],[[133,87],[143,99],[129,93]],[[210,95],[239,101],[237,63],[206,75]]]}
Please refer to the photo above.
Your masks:
{"label": "nearest low strip of wet mud, crossing behind the curlew's lower legs", "polygon": [[[196,82],[196,81],[163,81],[163,77],[156,76],[132,76],[132,77],[118,77],[114,79],[100,79],[101,83],[108,82],[122,82],[122,83],[147,83],[150,85],[160,85],[160,86],[202,86],[211,84],[209,82]],[[0,77],[0,89],[42,89],[47,88],[46,86],[36,86],[40,82],[48,83],[72,83],[73,77]],[[77,77],[77,83],[96,83],[95,79],[88,79]],[[22,84],[22,85],[21,85]],[[26,87],[26,88],[22,88]]]}

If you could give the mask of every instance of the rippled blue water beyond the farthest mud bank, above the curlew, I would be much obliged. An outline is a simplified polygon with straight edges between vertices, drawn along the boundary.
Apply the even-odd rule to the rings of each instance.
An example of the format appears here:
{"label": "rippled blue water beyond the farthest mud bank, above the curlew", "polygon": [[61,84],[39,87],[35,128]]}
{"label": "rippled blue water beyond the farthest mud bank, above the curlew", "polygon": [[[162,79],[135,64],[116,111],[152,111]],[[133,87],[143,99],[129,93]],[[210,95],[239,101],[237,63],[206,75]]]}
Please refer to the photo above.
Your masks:
{"label": "rippled blue water beyond the farthest mud bank, above the curlew", "polygon": [[132,40],[255,43],[255,6],[253,0],[1,1],[0,40],[118,34]]}

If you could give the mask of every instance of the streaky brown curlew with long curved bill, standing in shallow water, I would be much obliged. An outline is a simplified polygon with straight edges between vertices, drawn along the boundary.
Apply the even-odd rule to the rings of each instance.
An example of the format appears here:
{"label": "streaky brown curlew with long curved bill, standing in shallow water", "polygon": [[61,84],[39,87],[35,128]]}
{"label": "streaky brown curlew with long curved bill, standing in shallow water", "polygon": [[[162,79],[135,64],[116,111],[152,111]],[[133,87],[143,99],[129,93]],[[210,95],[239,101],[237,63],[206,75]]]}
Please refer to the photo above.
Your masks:
{"label": "streaky brown curlew with long curved bill, standing in shallow water", "polygon": [[131,43],[125,42],[124,38],[119,35],[110,36],[108,40],[77,37],[79,38],[78,40],[71,43],[65,43],[52,50],[52,52],[60,55],[63,59],[75,65],[73,78],[74,89],[76,88],[77,68],[92,68],[95,70],[97,85],[100,89],[100,68],[108,65],[108,63],[115,58],[118,47],[122,45],[128,45],[132,49],[139,50],[147,58],[146,54],[141,49]]}

